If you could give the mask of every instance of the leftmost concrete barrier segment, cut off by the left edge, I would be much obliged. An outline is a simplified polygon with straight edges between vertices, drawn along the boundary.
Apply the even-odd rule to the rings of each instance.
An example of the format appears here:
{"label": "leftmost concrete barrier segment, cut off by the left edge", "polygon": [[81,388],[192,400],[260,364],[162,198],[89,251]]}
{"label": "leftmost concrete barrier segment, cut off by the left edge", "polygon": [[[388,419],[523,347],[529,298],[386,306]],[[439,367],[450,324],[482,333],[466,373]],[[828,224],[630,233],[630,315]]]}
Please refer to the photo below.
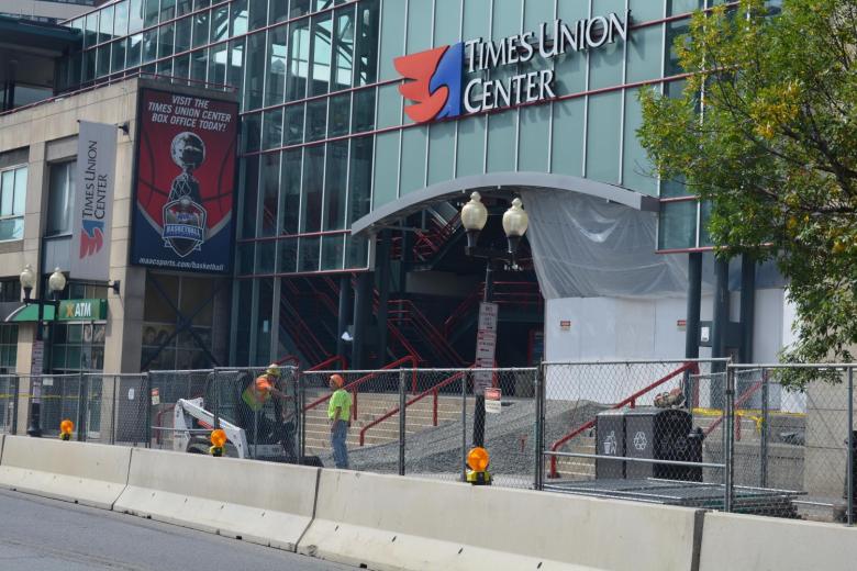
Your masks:
{"label": "leftmost concrete barrier segment, cut off by the left edge", "polygon": [[131,449],[64,443],[53,438],[3,438],[0,486],[110,510],[127,482]]}

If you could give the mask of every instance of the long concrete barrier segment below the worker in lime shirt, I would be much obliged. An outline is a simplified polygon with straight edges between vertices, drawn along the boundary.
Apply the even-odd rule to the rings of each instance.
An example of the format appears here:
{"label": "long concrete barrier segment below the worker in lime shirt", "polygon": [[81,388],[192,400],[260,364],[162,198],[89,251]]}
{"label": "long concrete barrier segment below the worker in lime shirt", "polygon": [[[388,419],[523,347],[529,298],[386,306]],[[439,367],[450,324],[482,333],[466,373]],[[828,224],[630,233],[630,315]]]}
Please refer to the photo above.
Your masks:
{"label": "long concrete barrier segment below the worker in lime shirt", "polygon": [[[323,470],[298,552],[378,570],[691,570],[702,512]],[[695,548],[694,548],[695,546]]]}

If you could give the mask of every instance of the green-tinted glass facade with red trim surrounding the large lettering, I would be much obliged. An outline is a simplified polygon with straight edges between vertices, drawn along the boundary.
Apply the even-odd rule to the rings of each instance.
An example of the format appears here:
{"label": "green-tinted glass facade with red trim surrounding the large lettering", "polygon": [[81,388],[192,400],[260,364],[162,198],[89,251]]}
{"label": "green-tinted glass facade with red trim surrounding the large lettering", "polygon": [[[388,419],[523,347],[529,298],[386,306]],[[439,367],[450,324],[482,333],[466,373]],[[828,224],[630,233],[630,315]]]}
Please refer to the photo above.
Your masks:
{"label": "green-tinted glass facade with red trim surrounding the large lettering", "polygon": [[[274,324],[270,312],[256,316],[278,306],[279,280],[366,268],[369,245],[348,228],[409,192],[472,175],[536,171],[681,198],[679,182],[652,173],[636,137],[637,97],[646,86],[681,89],[671,44],[691,11],[713,3],[722,2],[119,0],[68,23],[84,45],[60,79],[73,90],[147,72],[237,90],[241,312],[233,334],[249,339],[236,347],[237,360],[261,362]],[[515,67],[552,70],[556,99],[427,125],[404,113],[396,57],[626,10],[627,42],[477,72],[488,80],[508,79]],[[699,246],[699,210],[695,201],[665,203],[657,247]]]}

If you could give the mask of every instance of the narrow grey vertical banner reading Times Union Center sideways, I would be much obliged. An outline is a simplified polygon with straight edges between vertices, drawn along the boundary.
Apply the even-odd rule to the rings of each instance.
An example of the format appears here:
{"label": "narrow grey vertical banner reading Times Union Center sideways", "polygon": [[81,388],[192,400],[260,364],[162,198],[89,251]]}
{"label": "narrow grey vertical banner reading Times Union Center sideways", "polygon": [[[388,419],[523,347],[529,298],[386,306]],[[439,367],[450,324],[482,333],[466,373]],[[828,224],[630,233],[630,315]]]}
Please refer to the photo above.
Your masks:
{"label": "narrow grey vertical banner reading Times Union Center sideways", "polygon": [[116,173],[116,126],[80,121],[69,273],[110,279],[110,227]]}

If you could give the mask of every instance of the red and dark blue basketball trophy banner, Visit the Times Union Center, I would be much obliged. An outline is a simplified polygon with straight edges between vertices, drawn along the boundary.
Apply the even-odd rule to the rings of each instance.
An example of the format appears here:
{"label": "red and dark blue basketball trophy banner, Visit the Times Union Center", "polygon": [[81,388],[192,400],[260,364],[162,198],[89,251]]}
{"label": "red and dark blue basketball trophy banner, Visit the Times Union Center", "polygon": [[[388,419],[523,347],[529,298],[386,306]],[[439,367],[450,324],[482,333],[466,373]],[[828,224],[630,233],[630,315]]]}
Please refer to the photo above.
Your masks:
{"label": "red and dark blue basketball trophy banner, Visit the Times Union Center", "polygon": [[237,103],[144,89],[138,121],[131,264],[230,271]]}

